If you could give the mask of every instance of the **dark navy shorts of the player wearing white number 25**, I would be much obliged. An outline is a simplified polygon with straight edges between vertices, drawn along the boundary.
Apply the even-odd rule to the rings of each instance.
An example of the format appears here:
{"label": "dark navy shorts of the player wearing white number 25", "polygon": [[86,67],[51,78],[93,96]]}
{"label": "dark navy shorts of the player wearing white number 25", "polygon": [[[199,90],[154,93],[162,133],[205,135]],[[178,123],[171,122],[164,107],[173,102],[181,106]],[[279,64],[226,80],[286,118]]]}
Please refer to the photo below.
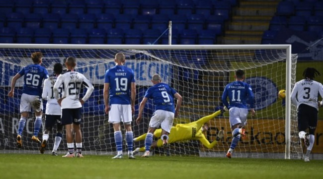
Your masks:
{"label": "dark navy shorts of the player wearing white number 25", "polygon": [[62,109],[62,125],[81,123],[81,108]]}

